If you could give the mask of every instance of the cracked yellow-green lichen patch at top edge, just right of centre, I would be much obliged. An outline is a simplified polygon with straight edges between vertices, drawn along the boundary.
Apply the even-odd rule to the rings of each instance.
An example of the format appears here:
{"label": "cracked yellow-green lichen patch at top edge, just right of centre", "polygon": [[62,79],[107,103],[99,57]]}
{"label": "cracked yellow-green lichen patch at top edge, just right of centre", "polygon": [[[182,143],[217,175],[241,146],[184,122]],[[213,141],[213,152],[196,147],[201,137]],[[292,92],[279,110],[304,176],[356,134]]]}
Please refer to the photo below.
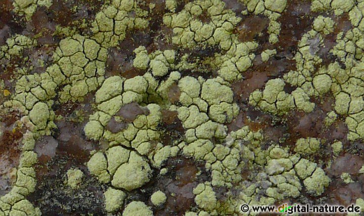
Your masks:
{"label": "cracked yellow-green lichen patch at top edge, just right of centre", "polygon": [[[224,10],[225,4],[222,1],[195,1],[185,5],[184,10],[177,14],[167,14],[163,22],[173,28],[175,36],[172,42],[184,47],[199,45],[220,44],[224,49],[229,48],[231,39],[230,31],[233,25],[239,22],[239,18],[230,10]],[[203,23],[198,16],[206,11],[211,17],[209,23]],[[218,16],[224,15],[224,16]],[[228,38],[222,38],[224,34]]]}

